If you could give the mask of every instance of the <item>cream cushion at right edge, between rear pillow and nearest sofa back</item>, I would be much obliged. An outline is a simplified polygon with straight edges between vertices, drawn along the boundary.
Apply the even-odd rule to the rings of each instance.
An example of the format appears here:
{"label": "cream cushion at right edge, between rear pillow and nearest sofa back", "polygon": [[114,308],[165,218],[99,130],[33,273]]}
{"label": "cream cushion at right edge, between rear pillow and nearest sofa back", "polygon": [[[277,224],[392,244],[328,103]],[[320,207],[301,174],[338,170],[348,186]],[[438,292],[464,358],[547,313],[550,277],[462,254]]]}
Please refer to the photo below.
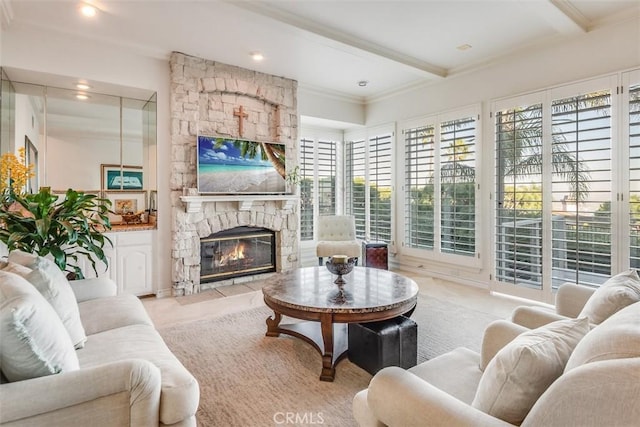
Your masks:
{"label": "cream cushion at right edge, between rear pillow and nearest sofa back", "polygon": [[640,303],[623,308],[592,329],[573,350],[564,371],[627,357],[640,357]]}

